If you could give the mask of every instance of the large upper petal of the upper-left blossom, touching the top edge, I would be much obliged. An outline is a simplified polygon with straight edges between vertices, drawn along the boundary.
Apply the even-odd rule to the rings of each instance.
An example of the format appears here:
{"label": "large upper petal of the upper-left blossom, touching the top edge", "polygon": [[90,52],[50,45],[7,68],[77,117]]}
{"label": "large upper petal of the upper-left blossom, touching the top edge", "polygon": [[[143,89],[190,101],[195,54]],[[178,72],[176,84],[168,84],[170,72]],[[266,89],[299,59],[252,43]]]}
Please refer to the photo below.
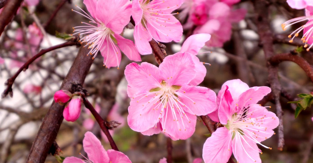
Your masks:
{"label": "large upper petal of the upper-left blossom, touching the top edge", "polygon": [[103,22],[105,27],[120,34],[131,19],[131,2],[129,0],[98,0],[95,17]]}

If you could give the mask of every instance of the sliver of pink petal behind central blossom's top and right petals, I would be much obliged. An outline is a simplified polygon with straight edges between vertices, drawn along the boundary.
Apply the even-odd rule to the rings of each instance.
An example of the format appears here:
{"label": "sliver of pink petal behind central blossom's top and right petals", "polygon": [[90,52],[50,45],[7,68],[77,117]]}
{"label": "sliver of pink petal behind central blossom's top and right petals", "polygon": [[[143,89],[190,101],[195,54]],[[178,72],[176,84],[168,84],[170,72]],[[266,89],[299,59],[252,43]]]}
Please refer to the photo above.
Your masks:
{"label": "sliver of pink petal behind central blossom's top and right petals", "polygon": [[200,62],[198,57],[193,55],[191,57],[193,63],[195,64],[196,77],[189,82],[189,85],[197,86],[203,81],[205,75],[207,74],[207,68],[203,65],[203,62]]}

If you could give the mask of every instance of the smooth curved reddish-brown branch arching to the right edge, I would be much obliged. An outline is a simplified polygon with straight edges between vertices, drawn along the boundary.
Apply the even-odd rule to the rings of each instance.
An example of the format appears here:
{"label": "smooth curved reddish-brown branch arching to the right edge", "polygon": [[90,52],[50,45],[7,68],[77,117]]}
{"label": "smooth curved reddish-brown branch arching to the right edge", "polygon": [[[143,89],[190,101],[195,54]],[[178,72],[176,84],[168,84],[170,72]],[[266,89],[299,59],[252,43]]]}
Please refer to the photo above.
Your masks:
{"label": "smooth curved reddish-brown branch arching to the right edge", "polygon": [[283,61],[291,61],[291,62],[295,62],[296,64],[298,64],[313,82],[313,67],[304,58],[298,55],[293,55],[291,53],[281,53],[281,54],[276,54],[275,56],[269,59],[269,62],[275,66]]}

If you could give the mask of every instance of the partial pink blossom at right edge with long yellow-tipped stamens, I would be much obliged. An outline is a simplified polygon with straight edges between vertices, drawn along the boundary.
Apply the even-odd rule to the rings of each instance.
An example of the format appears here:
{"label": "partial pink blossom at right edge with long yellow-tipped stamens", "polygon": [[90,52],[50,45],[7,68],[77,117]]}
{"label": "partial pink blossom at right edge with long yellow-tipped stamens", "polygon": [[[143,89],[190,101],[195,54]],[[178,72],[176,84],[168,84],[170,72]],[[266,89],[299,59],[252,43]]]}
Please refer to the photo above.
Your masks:
{"label": "partial pink blossom at right edge with long yellow-tipped stamens", "polygon": [[289,42],[293,42],[293,39],[295,37],[298,37],[299,33],[303,31],[303,36],[301,37],[301,40],[304,43],[303,47],[306,48],[306,51],[310,51],[310,48],[313,46],[313,38],[312,38],[312,36],[313,36],[313,32],[312,32],[313,31],[313,20],[312,20],[313,7],[307,6],[305,8],[305,14],[306,14],[306,16],[296,17],[296,18],[293,18],[293,19],[290,19],[290,20],[284,22],[281,25],[281,27],[285,31],[287,29],[287,27],[290,27],[291,25],[293,25],[295,23],[308,20],[308,22],[306,22],[305,25],[303,25],[303,26],[297,28],[295,31],[291,32],[288,37],[291,38],[289,40]]}

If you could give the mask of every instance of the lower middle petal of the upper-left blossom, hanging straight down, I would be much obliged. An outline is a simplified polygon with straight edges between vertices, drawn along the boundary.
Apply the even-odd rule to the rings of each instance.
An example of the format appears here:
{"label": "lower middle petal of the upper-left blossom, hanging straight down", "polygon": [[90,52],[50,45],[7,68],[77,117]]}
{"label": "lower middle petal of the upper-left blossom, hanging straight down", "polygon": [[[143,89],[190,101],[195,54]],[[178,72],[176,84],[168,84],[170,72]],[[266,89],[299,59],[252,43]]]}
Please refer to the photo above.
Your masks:
{"label": "lower middle petal of the upper-left blossom, hanging straight down", "polygon": [[120,65],[122,57],[121,51],[110,37],[105,38],[100,47],[100,52],[103,57],[103,64],[106,67],[110,68]]}

